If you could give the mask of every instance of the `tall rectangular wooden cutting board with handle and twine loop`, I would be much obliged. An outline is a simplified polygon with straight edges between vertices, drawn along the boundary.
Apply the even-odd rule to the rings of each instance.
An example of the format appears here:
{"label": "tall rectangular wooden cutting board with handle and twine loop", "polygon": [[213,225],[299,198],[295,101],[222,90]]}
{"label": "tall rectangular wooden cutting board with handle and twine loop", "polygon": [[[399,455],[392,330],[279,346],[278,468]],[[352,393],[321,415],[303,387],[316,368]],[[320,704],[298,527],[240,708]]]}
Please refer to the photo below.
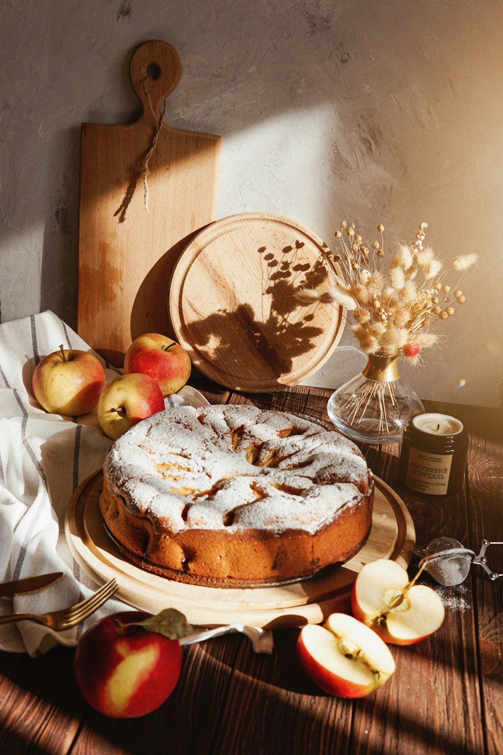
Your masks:
{"label": "tall rectangular wooden cutting board with handle and twine loop", "polygon": [[215,218],[221,137],[164,121],[181,71],[171,45],[145,42],[130,63],[140,119],[81,127],[78,333],[116,366],[136,336],[172,334],[171,271]]}

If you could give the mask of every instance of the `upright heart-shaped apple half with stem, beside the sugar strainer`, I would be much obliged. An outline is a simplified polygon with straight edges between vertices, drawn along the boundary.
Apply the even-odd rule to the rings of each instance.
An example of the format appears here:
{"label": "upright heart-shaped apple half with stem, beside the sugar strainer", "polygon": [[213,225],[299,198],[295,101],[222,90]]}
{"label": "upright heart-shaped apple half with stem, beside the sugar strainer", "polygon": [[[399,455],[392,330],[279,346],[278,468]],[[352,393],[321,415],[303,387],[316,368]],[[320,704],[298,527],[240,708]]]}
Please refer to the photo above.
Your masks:
{"label": "upright heart-shaped apple half with stem, beside the sugar strainer", "polygon": [[440,627],[445,616],[440,596],[409,582],[396,561],[379,559],[363,566],[353,585],[351,609],[385,643],[412,645]]}

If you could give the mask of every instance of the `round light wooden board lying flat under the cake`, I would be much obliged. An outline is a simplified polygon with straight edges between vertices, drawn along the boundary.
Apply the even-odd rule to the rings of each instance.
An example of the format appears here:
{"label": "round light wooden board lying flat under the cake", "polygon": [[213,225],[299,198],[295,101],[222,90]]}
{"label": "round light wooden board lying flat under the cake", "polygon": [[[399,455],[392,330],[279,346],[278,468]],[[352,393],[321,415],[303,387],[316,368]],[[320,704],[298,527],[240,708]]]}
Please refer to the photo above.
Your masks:
{"label": "round light wooden board lying flat under the cake", "polygon": [[191,624],[251,624],[256,627],[298,627],[318,624],[330,613],[347,610],[351,587],[367,562],[394,559],[404,568],[413,555],[416,534],[403,501],[376,478],[373,524],[365,547],[339,568],[311,579],[279,587],[237,590],[197,587],[144,572],[118,552],[100,517],[103,473],[98,471],[77,488],[65,519],[66,540],[75,560],[98,584],[112,577],[118,598],[135,608],[158,613],[182,611]]}

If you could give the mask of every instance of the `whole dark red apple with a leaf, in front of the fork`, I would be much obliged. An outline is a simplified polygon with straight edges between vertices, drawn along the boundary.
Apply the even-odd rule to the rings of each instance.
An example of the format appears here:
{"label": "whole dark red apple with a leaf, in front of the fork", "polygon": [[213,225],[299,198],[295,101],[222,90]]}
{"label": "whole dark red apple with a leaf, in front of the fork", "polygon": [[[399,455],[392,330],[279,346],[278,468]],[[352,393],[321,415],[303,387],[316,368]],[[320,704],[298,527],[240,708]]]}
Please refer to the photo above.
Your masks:
{"label": "whole dark red apple with a leaf, in front of the fork", "polygon": [[74,659],[78,689],[106,716],[136,718],[151,713],[167,700],[179,679],[178,639],[123,626],[148,616],[137,611],[107,616],[78,643]]}

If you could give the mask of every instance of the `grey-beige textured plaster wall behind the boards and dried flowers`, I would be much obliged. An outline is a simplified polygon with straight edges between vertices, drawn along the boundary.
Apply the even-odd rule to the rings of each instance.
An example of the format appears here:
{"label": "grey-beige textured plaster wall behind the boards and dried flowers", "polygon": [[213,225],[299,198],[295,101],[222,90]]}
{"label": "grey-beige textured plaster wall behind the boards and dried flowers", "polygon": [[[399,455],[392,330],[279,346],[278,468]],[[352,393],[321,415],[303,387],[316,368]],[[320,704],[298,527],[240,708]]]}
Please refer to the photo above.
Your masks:
{"label": "grey-beige textured plaster wall behind the boards and dried flowers", "polygon": [[2,0],[2,320],[75,326],[80,124],[136,119],[130,54],[165,39],[183,66],[167,121],[223,137],[217,217],[285,214],[329,245],[342,217],[390,240],[426,220],[444,259],[480,252],[412,380],[499,405],[502,28],[501,0]]}

